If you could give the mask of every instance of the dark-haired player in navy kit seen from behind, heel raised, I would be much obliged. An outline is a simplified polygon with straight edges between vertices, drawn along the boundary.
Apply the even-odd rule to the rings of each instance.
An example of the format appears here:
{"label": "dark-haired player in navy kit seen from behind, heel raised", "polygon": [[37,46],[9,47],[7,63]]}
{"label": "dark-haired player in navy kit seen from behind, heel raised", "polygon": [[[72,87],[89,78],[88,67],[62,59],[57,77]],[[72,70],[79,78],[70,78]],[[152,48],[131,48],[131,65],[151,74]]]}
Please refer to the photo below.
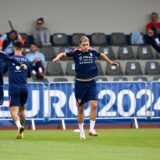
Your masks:
{"label": "dark-haired player in navy kit seen from behind, heel raised", "polygon": [[27,77],[31,77],[31,69],[28,60],[22,55],[23,44],[15,42],[13,50],[14,55],[10,58],[16,59],[21,64],[21,67],[11,62],[8,63],[10,113],[18,128],[17,139],[22,139],[25,104],[28,98]]}

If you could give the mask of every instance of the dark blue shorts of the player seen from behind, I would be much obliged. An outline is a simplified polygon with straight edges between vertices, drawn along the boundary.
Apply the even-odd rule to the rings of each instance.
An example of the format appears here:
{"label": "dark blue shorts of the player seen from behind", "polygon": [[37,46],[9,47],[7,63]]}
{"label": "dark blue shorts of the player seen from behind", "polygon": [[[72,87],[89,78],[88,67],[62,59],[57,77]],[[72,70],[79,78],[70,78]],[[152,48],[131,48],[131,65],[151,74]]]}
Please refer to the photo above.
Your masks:
{"label": "dark blue shorts of the player seen from behind", "polygon": [[24,87],[9,87],[10,106],[23,106],[27,102],[28,88]]}

